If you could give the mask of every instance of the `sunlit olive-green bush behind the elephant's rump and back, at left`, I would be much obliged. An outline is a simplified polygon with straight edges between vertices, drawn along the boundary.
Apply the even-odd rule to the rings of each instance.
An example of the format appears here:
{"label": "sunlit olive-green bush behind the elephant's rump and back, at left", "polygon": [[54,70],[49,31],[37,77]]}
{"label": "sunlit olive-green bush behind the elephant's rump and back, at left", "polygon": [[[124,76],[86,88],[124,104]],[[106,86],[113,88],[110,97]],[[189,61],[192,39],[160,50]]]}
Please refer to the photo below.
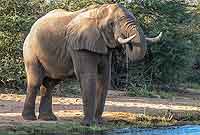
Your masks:
{"label": "sunlit olive-green bush behind the elephant's rump and back, at left", "polygon": [[[76,1],[77,2],[77,1]],[[78,10],[92,4],[92,0],[49,1],[1,0],[0,2],[0,86],[22,88],[25,70],[22,46],[33,23],[55,8]]]}

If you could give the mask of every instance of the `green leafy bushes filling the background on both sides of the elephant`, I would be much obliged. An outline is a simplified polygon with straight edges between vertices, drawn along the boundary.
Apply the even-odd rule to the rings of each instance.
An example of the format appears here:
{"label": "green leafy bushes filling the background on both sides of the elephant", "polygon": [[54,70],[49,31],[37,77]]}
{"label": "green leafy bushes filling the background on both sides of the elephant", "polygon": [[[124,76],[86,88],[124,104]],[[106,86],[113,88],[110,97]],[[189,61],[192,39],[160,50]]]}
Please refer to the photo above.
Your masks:
{"label": "green leafy bushes filling the background on both sides of the elephant", "polygon": [[[55,8],[75,11],[92,4],[110,2],[0,0],[0,86],[25,87],[22,46],[39,17]],[[144,62],[129,62],[128,71],[123,50],[116,50],[112,68],[114,88],[126,87],[133,93],[144,93],[158,85],[185,86],[200,82],[200,5],[189,5],[180,0],[117,2],[133,12],[146,35],[155,36],[160,31],[164,34],[159,43],[148,46]]]}

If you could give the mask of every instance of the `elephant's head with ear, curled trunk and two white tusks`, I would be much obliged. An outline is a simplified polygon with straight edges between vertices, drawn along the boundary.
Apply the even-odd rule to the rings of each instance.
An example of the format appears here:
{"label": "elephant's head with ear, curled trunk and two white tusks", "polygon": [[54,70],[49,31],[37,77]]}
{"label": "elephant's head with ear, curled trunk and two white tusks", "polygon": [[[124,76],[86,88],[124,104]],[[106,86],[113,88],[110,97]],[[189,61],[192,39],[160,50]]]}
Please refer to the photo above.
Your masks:
{"label": "elephant's head with ear, curled trunk and two white tusks", "polygon": [[161,37],[146,37],[134,15],[119,4],[88,8],[69,23],[67,34],[73,49],[106,54],[108,48],[125,46],[134,61],[144,58],[148,42]]}

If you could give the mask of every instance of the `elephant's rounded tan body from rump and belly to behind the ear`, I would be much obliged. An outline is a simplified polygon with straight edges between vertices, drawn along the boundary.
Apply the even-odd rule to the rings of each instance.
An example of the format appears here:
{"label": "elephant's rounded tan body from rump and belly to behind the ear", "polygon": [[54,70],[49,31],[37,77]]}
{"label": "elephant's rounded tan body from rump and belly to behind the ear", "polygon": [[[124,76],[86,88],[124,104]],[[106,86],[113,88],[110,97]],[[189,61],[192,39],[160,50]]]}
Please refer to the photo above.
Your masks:
{"label": "elephant's rounded tan body from rump and belly to behind the ear", "polygon": [[[71,57],[65,46],[65,26],[70,21],[55,10],[35,22],[23,47],[26,63],[37,59],[48,77],[64,78],[73,74]],[[67,22],[68,21],[68,22]]]}

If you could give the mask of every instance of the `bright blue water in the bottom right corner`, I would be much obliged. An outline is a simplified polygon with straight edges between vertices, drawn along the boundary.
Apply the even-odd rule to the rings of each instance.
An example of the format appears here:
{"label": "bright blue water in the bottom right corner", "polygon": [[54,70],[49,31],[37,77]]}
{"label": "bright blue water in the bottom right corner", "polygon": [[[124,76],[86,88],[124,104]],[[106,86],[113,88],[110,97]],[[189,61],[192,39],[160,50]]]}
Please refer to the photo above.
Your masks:
{"label": "bright blue water in the bottom right corner", "polygon": [[108,131],[104,135],[200,135],[200,125],[169,128],[125,128]]}

